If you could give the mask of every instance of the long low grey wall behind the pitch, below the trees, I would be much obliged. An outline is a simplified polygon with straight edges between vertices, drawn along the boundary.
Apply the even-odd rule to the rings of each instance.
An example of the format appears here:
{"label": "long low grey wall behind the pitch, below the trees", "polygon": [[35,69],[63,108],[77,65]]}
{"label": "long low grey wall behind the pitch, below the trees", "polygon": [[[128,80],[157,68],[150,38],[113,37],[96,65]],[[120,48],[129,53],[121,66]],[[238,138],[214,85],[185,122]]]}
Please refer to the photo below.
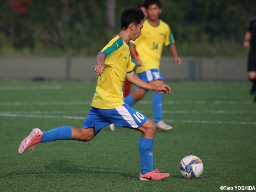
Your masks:
{"label": "long low grey wall behind the pitch, below the trees", "polygon": [[[178,66],[163,56],[160,71],[165,80],[247,80],[246,58],[183,57]],[[96,80],[96,57],[0,57],[0,80]]]}

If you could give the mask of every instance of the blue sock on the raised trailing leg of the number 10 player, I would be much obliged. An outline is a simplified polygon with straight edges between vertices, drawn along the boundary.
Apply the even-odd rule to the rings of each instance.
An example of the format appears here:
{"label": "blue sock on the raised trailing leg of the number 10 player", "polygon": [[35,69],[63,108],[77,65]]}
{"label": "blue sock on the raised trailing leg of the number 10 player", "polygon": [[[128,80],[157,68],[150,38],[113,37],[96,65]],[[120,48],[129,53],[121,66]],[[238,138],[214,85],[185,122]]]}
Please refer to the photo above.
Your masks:
{"label": "blue sock on the raised trailing leg of the number 10 player", "polygon": [[56,141],[56,140],[70,140],[71,139],[71,127],[62,126],[49,131],[44,131],[41,138],[41,143]]}

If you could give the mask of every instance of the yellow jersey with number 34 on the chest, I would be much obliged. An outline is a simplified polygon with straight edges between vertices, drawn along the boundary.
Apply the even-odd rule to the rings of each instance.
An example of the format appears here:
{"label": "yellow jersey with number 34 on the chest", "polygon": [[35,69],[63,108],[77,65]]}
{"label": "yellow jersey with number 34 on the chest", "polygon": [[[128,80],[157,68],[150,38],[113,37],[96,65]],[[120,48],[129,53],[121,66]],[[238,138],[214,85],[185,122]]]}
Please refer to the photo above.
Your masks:
{"label": "yellow jersey with number 34 on the chest", "polygon": [[142,35],[129,43],[136,46],[138,58],[143,64],[137,67],[136,73],[142,73],[149,69],[159,70],[163,46],[169,46],[175,42],[168,24],[159,20],[158,26],[152,26],[147,19],[143,24]]}

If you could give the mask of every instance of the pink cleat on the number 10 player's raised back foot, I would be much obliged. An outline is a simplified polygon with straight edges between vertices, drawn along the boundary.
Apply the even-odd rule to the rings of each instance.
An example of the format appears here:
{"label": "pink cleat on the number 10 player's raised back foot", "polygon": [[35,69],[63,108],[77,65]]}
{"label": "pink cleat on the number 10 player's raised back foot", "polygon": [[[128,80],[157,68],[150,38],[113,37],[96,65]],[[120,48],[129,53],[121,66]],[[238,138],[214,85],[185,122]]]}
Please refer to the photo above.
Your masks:
{"label": "pink cleat on the number 10 player's raised back foot", "polygon": [[19,154],[24,153],[28,148],[30,148],[32,152],[35,145],[40,143],[40,139],[42,138],[42,136],[43,132],[40,129],[32,129],[32,132],[20,143],[20,147],[18,150]]}

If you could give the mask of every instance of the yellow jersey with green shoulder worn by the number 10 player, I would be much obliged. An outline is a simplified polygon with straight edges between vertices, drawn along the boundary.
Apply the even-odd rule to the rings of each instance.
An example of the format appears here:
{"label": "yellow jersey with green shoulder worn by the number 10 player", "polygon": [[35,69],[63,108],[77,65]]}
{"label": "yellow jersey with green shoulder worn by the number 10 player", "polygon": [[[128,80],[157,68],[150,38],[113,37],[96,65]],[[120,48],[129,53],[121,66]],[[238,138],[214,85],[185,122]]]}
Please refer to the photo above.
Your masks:
{"label": "yellow jersey with green shoulder worn by the number 10 player", "polygon": [[124,104],[122,86],[126,74],[132,72],[137,63],[131,58],[128,44],[120,36],[110,40],[100,53],[105,54],[104,73],[98,77],[91,106],[113,109]]}

